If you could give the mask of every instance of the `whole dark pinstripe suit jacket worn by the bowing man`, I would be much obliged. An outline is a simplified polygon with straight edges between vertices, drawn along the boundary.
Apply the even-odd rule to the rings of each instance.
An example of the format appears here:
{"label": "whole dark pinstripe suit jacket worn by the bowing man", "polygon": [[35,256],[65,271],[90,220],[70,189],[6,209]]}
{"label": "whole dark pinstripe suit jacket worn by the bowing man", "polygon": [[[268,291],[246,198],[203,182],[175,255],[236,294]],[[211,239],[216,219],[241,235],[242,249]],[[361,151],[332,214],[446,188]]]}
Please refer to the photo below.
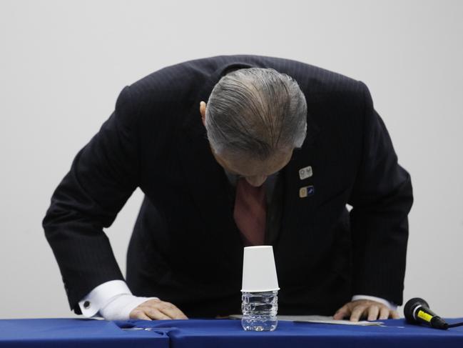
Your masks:
{"label": "whole dark pinstripe suit jacket worn by the bowing man", "polygon": [[[145,199],[128,249],[133,293],[190,317],[240,312],[243,243],[198,109],[220,76],[250,66],[292,76],[307,99],[307,139],[281,171],[281,224],[268,236],[279,313],[332,314],[352,294],[402,303],[412,186],[367,86],[297,61],[241,55],[168,66],[127,86],[76,155],[44,218],[76,312],[98,284],[123,279],[103,227],[136,187]],[[313,175],[300,179],[306,166]],[[315,193],[300,198],[307,186]]]}

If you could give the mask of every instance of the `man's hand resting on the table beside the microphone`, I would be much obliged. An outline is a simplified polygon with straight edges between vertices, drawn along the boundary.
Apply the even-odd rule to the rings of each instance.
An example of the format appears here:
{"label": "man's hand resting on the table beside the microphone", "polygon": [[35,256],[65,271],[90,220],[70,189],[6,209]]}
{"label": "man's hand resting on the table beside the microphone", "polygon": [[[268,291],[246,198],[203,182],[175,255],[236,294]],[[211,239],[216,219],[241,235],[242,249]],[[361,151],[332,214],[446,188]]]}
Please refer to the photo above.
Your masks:
{"label": "man's hand resting on the table beside the microphone", "polygon": [[333,319],[340,320],[345,317],[350,317],[351,322],[358,322],[360,318],[365,317],[367,320],[383,320],[389,317],[399,319],[399,313],[380,302],[371,301],[370,299],[357,299],[337,309]]}

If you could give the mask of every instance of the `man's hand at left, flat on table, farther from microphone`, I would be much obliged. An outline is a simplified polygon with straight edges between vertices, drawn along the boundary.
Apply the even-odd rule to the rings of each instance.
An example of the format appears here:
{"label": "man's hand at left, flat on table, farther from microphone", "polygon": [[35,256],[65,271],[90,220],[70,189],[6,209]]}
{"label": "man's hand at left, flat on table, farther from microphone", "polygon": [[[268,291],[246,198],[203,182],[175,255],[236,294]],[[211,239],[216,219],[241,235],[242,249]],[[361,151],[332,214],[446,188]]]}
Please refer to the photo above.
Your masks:
{"label": "man's hand at left, flat on table, farther from microphone", "polygon": [[188,319],[180,309],[160,299],[149,299],[143,302],[132,310],[130,318],[143,320]]}

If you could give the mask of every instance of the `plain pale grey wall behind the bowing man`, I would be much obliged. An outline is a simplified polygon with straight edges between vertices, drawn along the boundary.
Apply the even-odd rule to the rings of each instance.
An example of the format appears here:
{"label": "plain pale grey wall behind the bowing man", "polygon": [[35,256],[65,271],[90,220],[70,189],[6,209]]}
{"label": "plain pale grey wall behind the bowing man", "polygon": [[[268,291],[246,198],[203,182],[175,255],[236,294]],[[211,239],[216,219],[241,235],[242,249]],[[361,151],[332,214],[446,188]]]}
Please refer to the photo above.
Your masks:
{"label": "plain pale grey wall behind the bowing man", "polygon": [[[414,186],[405,299],[463,317],[462,18],[462,1],[443,0],[1,1],[0,317],[74,315],[41,227],[52,192],[123,86],[220,54],[370,87]],[[123,272],[142,197],[106,231]]]}

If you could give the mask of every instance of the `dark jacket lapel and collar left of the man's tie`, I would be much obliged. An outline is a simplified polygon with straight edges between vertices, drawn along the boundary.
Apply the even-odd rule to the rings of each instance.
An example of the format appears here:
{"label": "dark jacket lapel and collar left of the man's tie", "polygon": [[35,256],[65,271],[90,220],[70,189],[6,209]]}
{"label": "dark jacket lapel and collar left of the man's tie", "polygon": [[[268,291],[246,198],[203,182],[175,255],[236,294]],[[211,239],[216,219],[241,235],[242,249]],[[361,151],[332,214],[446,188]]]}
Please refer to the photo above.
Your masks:
{"label": "dark jacket lapel and collar left of the man's tie", "polygon": [[[203,219],[203,231],[209,245],[215,250],[217,257],[233,265],[241,262],[243,257],[243,242],[240,239],[238,227],[233,219],[233,207],[228,196],[228,182],[222,166],[215,161],[211,152],[205,127],[200,119],[199,103],[207,101],[210,92],[221,76],[230,69],[249,68],[252,65],[236,61],[224,64],[217,69],[205,82],[200,90],[193,109],[183,124],[183,144],[180,146],[180,158],[185,180]],[[212,261],[212,260],[211,260]]]}

